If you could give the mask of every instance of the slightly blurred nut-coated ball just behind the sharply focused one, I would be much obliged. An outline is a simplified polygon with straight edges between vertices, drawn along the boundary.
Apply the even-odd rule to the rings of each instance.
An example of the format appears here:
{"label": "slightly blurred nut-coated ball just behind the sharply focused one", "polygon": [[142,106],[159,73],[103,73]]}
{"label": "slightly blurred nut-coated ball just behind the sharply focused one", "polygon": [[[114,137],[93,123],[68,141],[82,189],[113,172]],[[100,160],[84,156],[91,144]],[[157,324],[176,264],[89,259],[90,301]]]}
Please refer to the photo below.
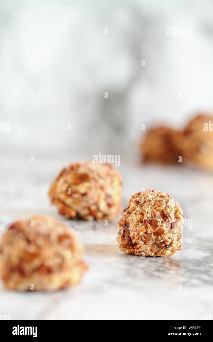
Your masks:
{"label": "slightly blurred nut-coated ball just behind the sharply focused one", "polygon": [[49,195],[65,218],[111,220],[121,211],[121,175],[110,164],[79,162],[62,170]]}

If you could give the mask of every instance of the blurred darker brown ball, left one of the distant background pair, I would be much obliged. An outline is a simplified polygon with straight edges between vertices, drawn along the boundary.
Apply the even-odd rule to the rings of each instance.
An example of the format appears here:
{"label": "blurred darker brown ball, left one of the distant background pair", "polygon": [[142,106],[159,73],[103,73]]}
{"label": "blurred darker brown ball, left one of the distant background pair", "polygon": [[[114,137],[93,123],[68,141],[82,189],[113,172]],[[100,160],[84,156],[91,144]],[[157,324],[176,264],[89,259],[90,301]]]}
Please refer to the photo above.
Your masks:
{"label": "blurred darker brown ball, left one of the distant background pair", "polygon": [[169,127],[157,127],[148,131],[141,144],[143,161],[158,163],[178,163],[179,149],[173,144],[177,131]]}

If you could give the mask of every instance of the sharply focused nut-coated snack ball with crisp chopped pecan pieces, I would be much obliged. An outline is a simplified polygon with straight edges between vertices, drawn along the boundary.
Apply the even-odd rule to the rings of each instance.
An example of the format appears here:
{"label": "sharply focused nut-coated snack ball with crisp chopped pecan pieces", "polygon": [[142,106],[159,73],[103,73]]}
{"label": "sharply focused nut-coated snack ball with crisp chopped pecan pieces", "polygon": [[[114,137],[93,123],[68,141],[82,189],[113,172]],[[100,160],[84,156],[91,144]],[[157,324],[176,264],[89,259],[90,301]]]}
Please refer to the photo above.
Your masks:
{"label": "sharply focused nut-coated snack ball with crisp chopped pecan pieces", "polygon": [[183,212],[163,191],[132,195],[118,225],[118,246],[126,253],[167,257],[182,247]]}

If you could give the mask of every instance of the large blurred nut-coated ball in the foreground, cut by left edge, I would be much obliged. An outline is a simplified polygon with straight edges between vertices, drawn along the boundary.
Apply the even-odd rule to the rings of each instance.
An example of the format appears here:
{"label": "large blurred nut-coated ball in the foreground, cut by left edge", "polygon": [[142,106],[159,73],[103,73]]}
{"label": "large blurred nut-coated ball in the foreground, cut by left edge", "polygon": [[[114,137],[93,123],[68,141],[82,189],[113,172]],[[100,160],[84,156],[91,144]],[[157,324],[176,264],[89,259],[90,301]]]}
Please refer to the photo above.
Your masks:
{"label": "large blurred nut-coated ball in the foreground, cut by left edge", "polygon": [[53,218],[16,221],[0,241],[0,274],[18,291],[54,291],[72,287],[87,269],[84,249],[72,229]]}

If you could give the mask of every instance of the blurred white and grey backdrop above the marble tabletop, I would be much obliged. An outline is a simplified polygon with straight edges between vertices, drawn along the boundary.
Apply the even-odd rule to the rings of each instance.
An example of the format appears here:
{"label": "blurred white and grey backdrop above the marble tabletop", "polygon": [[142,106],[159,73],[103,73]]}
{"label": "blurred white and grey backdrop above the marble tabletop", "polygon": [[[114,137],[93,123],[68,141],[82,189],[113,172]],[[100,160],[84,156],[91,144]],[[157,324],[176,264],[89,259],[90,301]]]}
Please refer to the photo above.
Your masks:
{"label": "blurred white and grey backdrop above the marble tabletop", "polygon": [[212,109],[212,1],[70,1],[1,1],[2,153],[129,156],[142,123]]}

